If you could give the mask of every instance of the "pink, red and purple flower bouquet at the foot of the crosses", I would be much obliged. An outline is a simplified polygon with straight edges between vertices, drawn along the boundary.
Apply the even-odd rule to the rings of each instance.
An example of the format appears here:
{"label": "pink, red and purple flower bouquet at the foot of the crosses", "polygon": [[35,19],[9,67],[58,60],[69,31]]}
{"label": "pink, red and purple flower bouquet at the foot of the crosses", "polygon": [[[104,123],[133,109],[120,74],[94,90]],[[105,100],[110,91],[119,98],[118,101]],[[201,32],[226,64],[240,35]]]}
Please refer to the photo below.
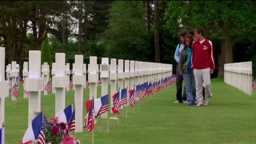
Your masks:
{"label": "pink, red and purple flower bouquet at the foot of the crosses", "polygon": [[46,116],[45,121],[45,143],[46,144],[80,144],[79,140],[75,140],[74,136],[64,138],[64,130],[66,124],[48,122]]}

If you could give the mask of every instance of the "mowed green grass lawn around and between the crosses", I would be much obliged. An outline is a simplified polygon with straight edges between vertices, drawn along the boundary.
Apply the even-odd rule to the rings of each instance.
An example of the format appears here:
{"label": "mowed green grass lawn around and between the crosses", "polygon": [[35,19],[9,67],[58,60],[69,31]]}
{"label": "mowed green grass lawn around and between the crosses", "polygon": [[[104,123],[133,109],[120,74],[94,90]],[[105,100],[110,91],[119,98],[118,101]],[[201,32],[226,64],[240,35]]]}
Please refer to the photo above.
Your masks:
{"label": "mowed green grass lawn around and between the crosses", "polygon": [[[100,97],[100,86],[97,90]],[[132,107],[128,107],[127,119],[125,108],[121,110],[119,125],[116,120],[109,120],[108,134],[107,120],[99,116],[94,143],[256,143],[256,92],[248,96],[217,78],[212,79],[212,94],[207,107],[174,104],[176,85],[173,84],[149,100],[141,100],[140,108],[136,101],[134,114]],[[89,88],[84,89],[84,104],[86,100]],[[74,91],[66,92],[66,106],[71,102]],[[54,116],[55,96],[44,96],[42,92],[41,107],[50,120]],[[27,126],[28,99],[23,99],[20,84],[18,101],[11,101],[11,96],[5,99],[5,143],[20,143]],[[75,136],[83,144],[92,143],[92,132],[83,131]]]}

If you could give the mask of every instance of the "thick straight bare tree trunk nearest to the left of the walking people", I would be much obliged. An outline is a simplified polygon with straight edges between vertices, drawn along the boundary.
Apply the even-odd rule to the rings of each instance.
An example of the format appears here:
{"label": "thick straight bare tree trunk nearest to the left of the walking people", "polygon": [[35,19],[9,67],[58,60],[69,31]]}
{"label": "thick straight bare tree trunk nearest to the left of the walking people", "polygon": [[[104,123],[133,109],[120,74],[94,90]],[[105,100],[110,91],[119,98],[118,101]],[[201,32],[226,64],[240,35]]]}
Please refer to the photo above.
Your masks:
{"label": "thick straight bare tree trunk nearest to the left of the walking people", "polygon": [[158,1],[154,1],[154,42],[155,42],[155,62],[160,62],[160,47],[158,33]]}

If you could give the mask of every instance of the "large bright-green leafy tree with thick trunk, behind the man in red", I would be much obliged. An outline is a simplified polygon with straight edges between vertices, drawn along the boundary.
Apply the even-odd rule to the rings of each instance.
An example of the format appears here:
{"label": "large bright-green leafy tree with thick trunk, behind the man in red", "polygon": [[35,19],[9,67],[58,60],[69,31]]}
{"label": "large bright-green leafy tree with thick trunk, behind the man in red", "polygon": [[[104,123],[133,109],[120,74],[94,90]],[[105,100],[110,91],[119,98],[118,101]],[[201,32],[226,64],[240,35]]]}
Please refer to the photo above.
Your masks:
{"label": "large bright-green leafy tree with thick trunk, behind the man in red", "polygon": [[[224,63],[233,62],[233,44],[256,21],[252,1],[171,1],[165,20],[167,27],[177,34],[182,29],[202,26],[206,36],[220,37],[219,77],[223,77]],[[213,50],[214,50],[213,45]]]}

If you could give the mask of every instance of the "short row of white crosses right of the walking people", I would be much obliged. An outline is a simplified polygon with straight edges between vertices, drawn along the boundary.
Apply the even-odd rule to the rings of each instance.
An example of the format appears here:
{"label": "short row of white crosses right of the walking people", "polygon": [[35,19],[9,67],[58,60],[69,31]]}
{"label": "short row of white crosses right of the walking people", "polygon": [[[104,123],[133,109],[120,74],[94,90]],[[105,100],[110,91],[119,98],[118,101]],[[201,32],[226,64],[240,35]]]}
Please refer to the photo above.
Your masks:
{"label": "short row of white crosses right of the walking people", "polygon": [[224,82],[252,95],[252,61],[224,64]]}

